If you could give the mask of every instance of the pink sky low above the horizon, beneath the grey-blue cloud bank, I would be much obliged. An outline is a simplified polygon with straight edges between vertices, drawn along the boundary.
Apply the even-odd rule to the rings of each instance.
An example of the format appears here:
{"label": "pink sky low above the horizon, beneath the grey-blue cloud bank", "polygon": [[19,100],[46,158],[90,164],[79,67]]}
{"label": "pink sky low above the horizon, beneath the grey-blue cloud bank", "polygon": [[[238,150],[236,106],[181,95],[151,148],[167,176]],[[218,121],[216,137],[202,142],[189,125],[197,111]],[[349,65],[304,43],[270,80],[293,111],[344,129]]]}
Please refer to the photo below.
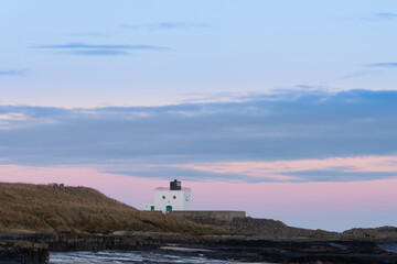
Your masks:
{"label": "pink sky low above the horizon, beneath the grey-blue cloud bank", "polygon": [[[355,166],[362,170],[393,169],[393,158],[357,157],[341,160],[337,164],[350,161],[352,169]],[[297,168],[324,167],[333,166],[332,161],[337,160],[311,160],[301,166],[296,165]],[[269,169],[280,169],[278,163],[266,165]],[[285,162],[285,166],[292,169],[294,163]],[[382,167],[374,167],[375,164]],[[255,170],[257,167],[254,165],[233,163],[225,168],[227,166],[223,164],[216,170]],[[207,169],[215,170],[211,166]],[[152,201],[154,187],[169,185],[169,180],[106,174],[95,167],[66,166],[0,165],[0,180],[33,184],[55,182],[93,187],[138,209],[143,202]],[[353,227],[397,226],[397,178],[350,183],[183,182],[183,186],[192,188],[192,206],[197,210],[245,210],[248,216],[281,220],[289,226],[337,231]]]}

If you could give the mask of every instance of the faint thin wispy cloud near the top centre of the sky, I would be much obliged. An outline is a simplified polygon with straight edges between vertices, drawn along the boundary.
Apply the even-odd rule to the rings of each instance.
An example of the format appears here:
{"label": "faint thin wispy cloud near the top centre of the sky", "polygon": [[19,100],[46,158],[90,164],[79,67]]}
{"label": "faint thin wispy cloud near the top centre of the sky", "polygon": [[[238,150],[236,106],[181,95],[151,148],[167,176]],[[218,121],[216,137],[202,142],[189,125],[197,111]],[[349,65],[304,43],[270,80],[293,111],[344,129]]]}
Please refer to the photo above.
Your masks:
{"label": "faint thin wispy cloud near the top centre of the sky", "polygon": [[130,30],[150,30],[150,31],[161,31],[161,30],[191,30],[191,29],[203,29],[208,28],[204,23],[190,23],[190,22],[162,22],[162,23],[151,23],[151,24],[121,24],[124,29]]}

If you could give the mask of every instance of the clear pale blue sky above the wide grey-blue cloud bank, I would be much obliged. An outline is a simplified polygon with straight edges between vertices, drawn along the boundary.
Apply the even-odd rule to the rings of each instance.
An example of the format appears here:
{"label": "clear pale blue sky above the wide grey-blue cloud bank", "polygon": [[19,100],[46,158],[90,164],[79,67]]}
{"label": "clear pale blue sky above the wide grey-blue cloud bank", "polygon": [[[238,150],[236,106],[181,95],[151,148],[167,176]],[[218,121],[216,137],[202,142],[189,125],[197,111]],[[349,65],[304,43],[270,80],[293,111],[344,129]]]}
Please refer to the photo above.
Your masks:
{"label": "clear pale blue sky above the wide grey-blue cloud bank", "polygon": [[396,28],[393,0],[1,1],[0,103],[395,89]]}

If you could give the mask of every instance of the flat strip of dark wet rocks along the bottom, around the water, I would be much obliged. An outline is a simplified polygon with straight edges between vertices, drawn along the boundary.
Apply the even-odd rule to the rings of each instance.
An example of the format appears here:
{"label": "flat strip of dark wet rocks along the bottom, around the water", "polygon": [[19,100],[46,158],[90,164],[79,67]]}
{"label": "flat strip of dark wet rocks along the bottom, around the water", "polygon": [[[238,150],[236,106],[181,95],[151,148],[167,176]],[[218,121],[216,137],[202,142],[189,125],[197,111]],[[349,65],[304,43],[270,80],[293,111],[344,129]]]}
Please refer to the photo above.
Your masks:
{"label": "flat strip of dark wet rocks along the bottom, around the water", "polygon": [[0,262],[46,263],[49,252],[153,251],[219,261],[268,263],[397,263],[397,243],[190,235],[155,232],[112,234],[8,234],[0,238]]}

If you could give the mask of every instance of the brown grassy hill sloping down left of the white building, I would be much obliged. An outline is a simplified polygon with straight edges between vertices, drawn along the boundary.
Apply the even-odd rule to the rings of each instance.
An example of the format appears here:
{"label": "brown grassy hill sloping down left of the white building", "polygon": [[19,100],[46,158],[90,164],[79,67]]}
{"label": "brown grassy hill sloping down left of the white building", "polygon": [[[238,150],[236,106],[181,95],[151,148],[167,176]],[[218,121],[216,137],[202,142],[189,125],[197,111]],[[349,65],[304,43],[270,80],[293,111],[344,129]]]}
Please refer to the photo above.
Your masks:
{"label": "brown grassy hill sloping down left of the white building", "polygon": [[85,187],[0,183],[1,232],[89,232],[117,230],[219,232],[160,212],[140,211]]}

